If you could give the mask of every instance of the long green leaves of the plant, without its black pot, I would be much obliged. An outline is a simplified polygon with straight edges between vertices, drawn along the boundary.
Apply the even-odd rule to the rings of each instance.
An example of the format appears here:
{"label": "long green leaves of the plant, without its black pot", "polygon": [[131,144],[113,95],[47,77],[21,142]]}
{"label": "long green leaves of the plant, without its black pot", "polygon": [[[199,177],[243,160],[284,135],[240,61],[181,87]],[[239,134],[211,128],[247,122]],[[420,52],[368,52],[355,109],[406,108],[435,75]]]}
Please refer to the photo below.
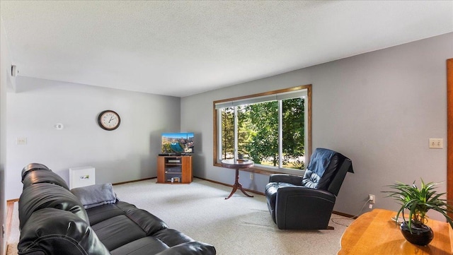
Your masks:
{"label": "long green leaves of the plant, without its black pot", "polygon": [[447,200],[442,198],[446,193],[438,193],[436,189],[437,183],[429,182],[425,184],[421,179],[420,189],[415,185],[415,181],[412,185],[404,184],[402,182],[396,182],[396,184],[388,185],[392,191],[383,191],[389,194],[387,197],[395,198],[401,208],[399,208],[396,218],[399,215],[403,215],[404,210],[409,211],[408,228],[412,232],[412,224],[424,225],[427,223],[428,210],[435,210],[442,215],[449,225],[453,228],[453,220],[449,217],[448,213],[453,213],[453,207],[447,203]]}

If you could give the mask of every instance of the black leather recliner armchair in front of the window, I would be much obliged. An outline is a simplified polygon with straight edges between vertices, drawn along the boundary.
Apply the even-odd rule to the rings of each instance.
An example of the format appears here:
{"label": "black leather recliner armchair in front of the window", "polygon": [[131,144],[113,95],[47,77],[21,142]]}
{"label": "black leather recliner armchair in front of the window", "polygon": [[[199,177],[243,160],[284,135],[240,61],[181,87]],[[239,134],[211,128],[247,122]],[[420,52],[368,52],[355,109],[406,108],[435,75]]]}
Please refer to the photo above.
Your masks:
{"label": "black leather recliner armchair in front of the window", "polygon": [[333,150],[317,148],[304,177],[271,174],[265,188],[270,215],[280,230],[326,230],[336,196],[352,162]]}

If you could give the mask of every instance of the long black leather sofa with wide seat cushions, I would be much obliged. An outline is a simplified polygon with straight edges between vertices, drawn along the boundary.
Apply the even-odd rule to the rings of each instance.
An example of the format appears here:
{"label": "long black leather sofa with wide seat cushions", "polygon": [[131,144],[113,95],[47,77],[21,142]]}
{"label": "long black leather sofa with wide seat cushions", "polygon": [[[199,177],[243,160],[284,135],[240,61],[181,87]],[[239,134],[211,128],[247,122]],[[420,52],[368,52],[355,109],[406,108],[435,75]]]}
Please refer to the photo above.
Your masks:
{"label": "long black leather sofa with wide seat cushions", "polygon": [[116,196],[113,203],[84,208],[45,165],[24,167],[22,182],[18,254],[216,254],[212,245],[168,228]]}

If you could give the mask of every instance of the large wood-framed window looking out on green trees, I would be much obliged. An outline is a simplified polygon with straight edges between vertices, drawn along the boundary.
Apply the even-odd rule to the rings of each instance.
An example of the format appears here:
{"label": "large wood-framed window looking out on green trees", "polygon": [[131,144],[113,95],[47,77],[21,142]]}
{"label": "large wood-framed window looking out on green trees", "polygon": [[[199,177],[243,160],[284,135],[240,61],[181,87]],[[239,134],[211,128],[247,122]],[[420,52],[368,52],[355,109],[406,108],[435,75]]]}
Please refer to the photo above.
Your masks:
{"label": "large wood-framed window looking out on green trees", "polygon": [[241,154],[258,170],[304,170],[310,108],[311,85],[214,102],[214,165]]}

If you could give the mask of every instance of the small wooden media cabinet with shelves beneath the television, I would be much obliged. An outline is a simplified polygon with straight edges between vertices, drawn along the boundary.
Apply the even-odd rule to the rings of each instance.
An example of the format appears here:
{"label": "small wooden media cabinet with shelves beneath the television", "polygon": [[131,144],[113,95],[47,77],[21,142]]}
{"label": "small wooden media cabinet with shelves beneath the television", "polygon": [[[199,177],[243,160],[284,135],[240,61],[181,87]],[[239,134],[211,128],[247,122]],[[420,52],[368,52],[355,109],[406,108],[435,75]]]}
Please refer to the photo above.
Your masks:
{"label": "small wooden media cabinet with shelves beneath the television", "polygon": [[192,156],[159,156],[157,158],[157,183],[188,184],[192,181]]}

